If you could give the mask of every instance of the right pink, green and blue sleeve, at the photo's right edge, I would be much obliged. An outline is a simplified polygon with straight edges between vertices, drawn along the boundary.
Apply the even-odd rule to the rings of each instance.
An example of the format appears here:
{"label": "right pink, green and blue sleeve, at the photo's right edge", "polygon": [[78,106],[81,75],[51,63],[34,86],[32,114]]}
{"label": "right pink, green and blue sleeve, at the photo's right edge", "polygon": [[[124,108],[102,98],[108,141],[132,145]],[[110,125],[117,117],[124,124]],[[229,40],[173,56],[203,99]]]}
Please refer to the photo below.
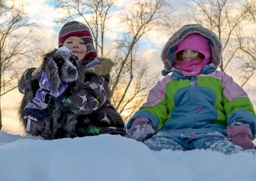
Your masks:
{"label": "right pink, green and blue sleeve, at the photo's right edge", "polygon": [[254,139],[256,137],[256,116],[248,95],[226,73],[222,77],[222,85],[223,108],[226,112],[228,126],[233,125],[234,122],[248,124],[252,130],[252,139]]}

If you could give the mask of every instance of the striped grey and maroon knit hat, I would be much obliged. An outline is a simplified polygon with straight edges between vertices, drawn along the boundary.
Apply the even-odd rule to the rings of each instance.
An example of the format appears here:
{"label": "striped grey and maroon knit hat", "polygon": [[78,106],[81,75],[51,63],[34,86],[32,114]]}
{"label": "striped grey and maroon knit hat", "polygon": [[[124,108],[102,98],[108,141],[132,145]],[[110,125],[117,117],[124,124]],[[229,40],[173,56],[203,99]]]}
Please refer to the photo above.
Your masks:
{"label": "striped grey and maroon knit hat", "polygon": [[59,33],[59,48],[62,47],[68,37],[80,37],[84,40],[87,52],[82,61],[97,57],[97,51],[94,48],[92,35],[88,26],[78,21],[69,21],[64,24]]}

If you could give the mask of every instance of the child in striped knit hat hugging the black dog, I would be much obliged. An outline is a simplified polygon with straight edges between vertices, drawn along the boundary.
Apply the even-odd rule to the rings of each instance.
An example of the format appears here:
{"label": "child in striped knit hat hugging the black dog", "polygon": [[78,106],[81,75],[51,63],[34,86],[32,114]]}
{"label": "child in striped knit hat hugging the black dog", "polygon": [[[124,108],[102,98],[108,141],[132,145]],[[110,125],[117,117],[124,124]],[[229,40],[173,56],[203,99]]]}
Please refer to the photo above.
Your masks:
{"label": "child in striped knit hat hugging the black dog", "polygon": [[[97,57],[88,26],[78,21],[65,23],[59,33],[58,47],[70,49],[84,67],[86,83],[83,89],[61,101],[61,104],[78,115],[75,126],[77,136],[125,136],[126,127],[123,119],[110,102],[109,73],[115,63],[110,59]],[[38,86],[40,75],[41,66],[26,70],[19,80],[19,91],[25,94],[23,90],[26,90],[28,84]]]}

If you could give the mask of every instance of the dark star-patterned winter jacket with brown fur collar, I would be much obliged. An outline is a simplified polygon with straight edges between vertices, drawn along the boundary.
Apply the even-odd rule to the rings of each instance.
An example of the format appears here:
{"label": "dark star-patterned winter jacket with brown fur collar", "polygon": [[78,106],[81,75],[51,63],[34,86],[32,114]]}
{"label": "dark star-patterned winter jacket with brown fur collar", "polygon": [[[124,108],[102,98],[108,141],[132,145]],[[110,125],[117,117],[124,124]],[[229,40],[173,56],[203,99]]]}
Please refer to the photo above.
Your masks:
{"label": "dark star-patterned winter jacket with brown fur collar", "polygon": [[[107,58],[97,61],[83,61],[85,84],[83,89],[72,93],[63,104],[78,114],[76,133],[78,136],[98,134],[126,134],[122,117],[110,102],[109,73],[114,62]],[[94,63],[92,63],[94,62]],[[96,62],[96,63],[95,63]],[[39,88],[40,74],[32,77],[35,68],[24,72],[18,82],[20,93],[26,93],[26,87],[36,91]]]}

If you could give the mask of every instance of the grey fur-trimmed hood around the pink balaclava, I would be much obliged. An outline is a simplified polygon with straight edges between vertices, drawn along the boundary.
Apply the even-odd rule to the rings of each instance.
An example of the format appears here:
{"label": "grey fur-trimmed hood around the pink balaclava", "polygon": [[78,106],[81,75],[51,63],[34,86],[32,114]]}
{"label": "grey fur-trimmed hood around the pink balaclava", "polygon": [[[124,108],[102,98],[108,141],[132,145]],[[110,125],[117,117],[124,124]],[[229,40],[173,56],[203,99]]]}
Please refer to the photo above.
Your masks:
{"label": "grey fur-trimmed hood around the pink balaclava", "polygon": [[211,44],[212,48],[212,60],[215,67],[218,67],[221,63],[222,43],[218,36],[210,29],[203,27],[201,24],[189,24],[180,28],[175,32],[171,38],[166,42],[162,52],[161,60],[164,64],[164,69],[171,72],[173,67],[173,52],[176,49],[176,45],[183,40],[188,34],[198,33],[204,36]]}

